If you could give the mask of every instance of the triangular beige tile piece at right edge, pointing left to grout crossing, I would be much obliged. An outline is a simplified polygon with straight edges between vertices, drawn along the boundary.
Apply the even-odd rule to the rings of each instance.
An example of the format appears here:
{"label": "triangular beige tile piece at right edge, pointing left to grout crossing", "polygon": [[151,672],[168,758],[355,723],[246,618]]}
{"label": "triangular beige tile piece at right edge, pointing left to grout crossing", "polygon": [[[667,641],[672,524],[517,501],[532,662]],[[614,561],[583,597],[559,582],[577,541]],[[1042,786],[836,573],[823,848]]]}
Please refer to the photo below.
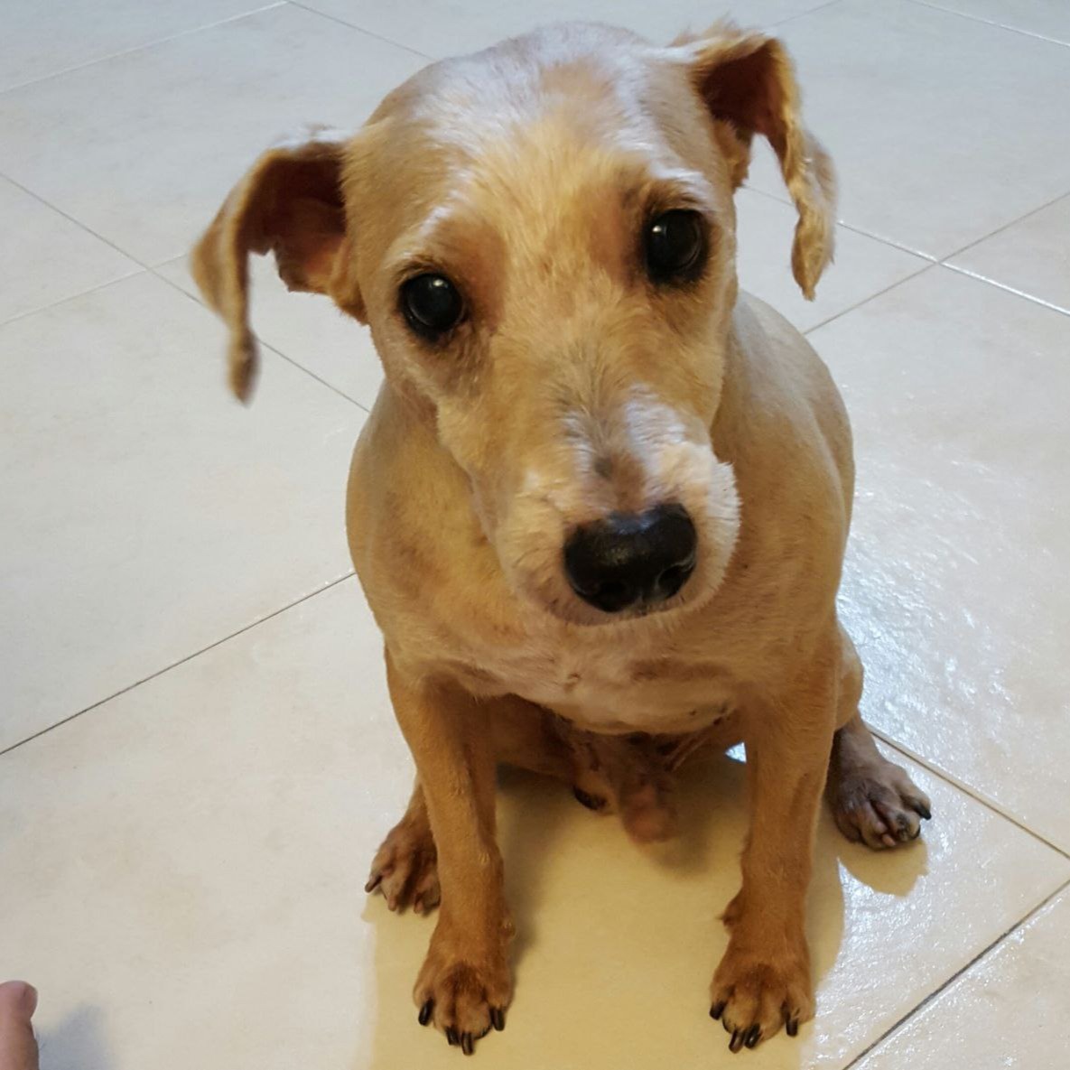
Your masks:
{"label": "triangular beige tile piece at right edge, pointing left to grout crossing", "polygon": [[948,262],[1070,312],[1070,196]]}

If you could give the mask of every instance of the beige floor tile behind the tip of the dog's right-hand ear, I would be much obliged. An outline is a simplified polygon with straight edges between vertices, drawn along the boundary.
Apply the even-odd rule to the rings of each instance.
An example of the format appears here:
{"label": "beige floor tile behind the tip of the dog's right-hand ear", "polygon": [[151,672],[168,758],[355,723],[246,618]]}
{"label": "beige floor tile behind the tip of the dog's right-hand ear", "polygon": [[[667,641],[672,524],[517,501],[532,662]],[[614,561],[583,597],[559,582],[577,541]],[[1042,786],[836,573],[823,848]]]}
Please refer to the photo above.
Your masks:
{"label": "beige floor tile behind the tip of the dog's right-hand ear", "polygon": [[929,261],[857,234],[836,230],[836,261],[817,285],[815,301],[807,301],[792,278],[791,249],[795,210],[764,194],[740,189],[738,217],[739,285],[767,301],[800,331],[871,297],[921,271]]}

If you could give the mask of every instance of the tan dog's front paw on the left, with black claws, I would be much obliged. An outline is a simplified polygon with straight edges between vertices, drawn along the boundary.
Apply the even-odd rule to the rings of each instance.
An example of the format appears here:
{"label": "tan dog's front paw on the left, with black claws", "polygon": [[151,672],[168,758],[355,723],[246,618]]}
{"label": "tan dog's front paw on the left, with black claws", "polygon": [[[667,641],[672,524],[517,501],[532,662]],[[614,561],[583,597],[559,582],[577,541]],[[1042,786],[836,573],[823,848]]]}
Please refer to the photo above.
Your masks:
{"label": "tan dog's front paw on the left, with black claws", "polygon": [[513,981],[504,943],[500,953],[479,958],[457,953],[437,931],[416,980],[419,1024],[434,1025],[465,1055],[492,1028],[505,1028]]}

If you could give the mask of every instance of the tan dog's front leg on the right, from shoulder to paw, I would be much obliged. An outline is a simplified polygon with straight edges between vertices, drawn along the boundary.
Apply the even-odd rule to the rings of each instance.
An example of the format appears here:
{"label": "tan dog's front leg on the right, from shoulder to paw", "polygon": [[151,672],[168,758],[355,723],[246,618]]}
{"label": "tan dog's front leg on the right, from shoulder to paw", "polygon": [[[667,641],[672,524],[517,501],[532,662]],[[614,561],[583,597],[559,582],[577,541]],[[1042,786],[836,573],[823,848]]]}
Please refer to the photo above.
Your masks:
{"label": "tan dog's front leg on the right, from shoulder to paw", "polygon": [[838,671],[838,659],[823,653],[790,693],[748,712],[751,827],[743,888],[724,913],[732,935],[709,1012],[732,1035],[733,1052],[782,1025],[794,1036],[813,1017],[805,905]]}

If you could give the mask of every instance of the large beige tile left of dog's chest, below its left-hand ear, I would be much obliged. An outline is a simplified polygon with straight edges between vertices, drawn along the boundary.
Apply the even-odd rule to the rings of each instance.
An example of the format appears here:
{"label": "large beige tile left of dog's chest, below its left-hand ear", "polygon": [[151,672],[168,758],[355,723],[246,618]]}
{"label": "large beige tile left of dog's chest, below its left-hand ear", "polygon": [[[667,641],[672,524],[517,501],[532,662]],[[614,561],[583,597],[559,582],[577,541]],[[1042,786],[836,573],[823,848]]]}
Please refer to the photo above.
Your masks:
{"label": "large beige tile left of dog's chest, below its left-hand ear", "polygon": [[0,749],[349,571],[363,412],[147,275],[0,327]]}

